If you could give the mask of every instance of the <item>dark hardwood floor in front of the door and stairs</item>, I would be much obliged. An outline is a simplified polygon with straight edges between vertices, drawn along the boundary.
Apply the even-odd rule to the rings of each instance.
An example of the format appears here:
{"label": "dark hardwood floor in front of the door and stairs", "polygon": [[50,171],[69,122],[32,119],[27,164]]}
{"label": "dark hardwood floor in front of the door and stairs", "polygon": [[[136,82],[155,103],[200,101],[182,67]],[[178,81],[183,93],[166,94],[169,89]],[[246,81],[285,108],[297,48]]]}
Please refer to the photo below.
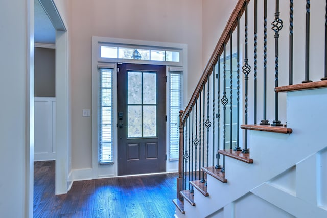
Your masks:
{"label": "dark hardwood floor in front of the door and stairs", "polygon": [[173,217],[177,173],[75,181],[55,195],[55,162],[34,162],[34,217]]}

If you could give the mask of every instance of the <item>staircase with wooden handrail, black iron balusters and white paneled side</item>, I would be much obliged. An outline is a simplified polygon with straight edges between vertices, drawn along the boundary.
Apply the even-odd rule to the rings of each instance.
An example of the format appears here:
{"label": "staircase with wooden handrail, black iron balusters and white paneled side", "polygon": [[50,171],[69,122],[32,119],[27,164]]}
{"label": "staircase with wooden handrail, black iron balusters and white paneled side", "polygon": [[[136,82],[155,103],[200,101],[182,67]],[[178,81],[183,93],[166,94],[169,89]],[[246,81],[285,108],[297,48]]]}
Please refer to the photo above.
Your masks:
{"label": "staircase with wooden handrail, black iron balusters and white paneled side", "polygon": [[[300,7],[295,6],[293,8],[293,1],[273,2],[276,3],[276,6],[281,4],[279,7],[287,4],[290,7],[290,14],[291,11]],[[302,5],[304,4],[303,8],[305,9],[310,7],[310,1],[299,2],[303,2]],[[311,2],[316,4],[312,8],[317,8],[319,6],[317,4],[326,7],[326,2]],[[261,94],[265,92],[264,79],[256,81],[256,76],[253,76],[249,82],[247,81],[249,78],[246,78],[249,73],[243,70],[244,81],[237,85],[237,92],[243,91],[239,86],[244,88],[243,101],[238,100],[240,106],[235,107],[240,111],[241,119],[237,122],[236,130],[226,125],[230,114],[232,114],[231,111],[226,115],[227,104],[224,104],[222,100],[227,92],[225,71],[229,67],[225,58],[225,54],[228,53],[226,46],[233,47],[228,41],[233,41],[230,39],[230,35],[236,34],[234,30],[239,32],[240,20],[245,23],[246,29],[243,32],[245,33],[243,38],[237,37],[239,41],[248,40],[246,39],[248,29],[253,28],[254,33],[256,33],[255,22],[247,24],[245,21],[248,17],[248,10],[250,7],[252,10],[254,8],[253,17],[251,17],[251,21],[253,21],[253,19],[260,18],[260,15],[257,15],[255,11],[260,7],[265,8],[266,4],[266,1],[246,0],[240,0],[237,3],[189,105],[185,111],[180,113],[179,176],[177,178],[177,198],[173,200],[176,205],[175,217],[327,217],[327,141],[324,138],[324,134],[327,133],[324,128],[327,121],[327,80],[325,80],[326,74],[323,75],[323,71],[326,72],[324,69],[325,60],[322,63],[316,62],[320,65],[319,72],[313,72],[308,66],[311,73],[310,77],[307,70],[302,70],[303,72],[306,71],[303,73],[305,74],[303,83],[293,84],[291,80],[299,77],[294,75],[290,76],[289,84],[284,82],[284,86],[278,86],[278,82],[275,82],[275,87],[263,100],[262,98],[248,100],[248,96],[254,95],[255,99],[256,96],[265,95]],[[278,9],[278,7],[276,8]],[[276,12],[278,10],[268,11],[268,13],[273,14]],[[325,14],[326,11],[320,18],[324,17]],[[308,10],[303,16],[308,18]],[[248,20],[250,19],[248,18]],[[289,24],[291,22],[290,20]],[[308,23],[305,27],[307,25]],[[243,28],[245,27],[243,26]],[[308,28],[306,31],[310,30]],[[311,34],[313,33],[311,32]],[[257,46],[255,41],[260,40],[256,39],[255,35],[254,47]],[[310,36],[310,33],[308,35]],[[306,38],[306,43],[307,40],[312,42]],[[282,38],[281,43],[283,44]],[[324,41],[321,43],[323,44]],[[248,44],[247,41],[243,44],[245,53],[248,50]],[[251,46],[252,52],[243,64],[239,64],[241,61],[238,56],[238,77],[240,76],[239,71],[242,70],[239,65],[244,66],[247,61],[256,65],[254,74],[259,67],[262,68],[259,63],[255,63],[259,59],[256,57],[259,50],[255,51],[254,47]],[[272,47],[271,50],[275,48]],[[230,57],[233,53],[233,49],[231,50]],[[291,56],[289,55],[292,53],[290,51],[291,49],[287,51],[288,57]],[[240,53],[238,49],[237,53]],[[303,51],[303,57],[307,57],[306,53]],[[275,59],[270,62],[268,60],[267,63],[276,63],[275,61]],[[282,62],[283,60],[277,60],[277,65],[278,61]],[[300,60],[296,60],[296,58],[292,61],[287,60],[287,68],[292,65],[289,67],[290,72],[297,61]],[[278,67],[274,70],[276,70],[275,75],[278,75]],[[230,72],[232,71],[233,69],[230,69]],[[220,74],[223,74],[222,77]],[[215,77],[218,81],[215,80]],[[260,77],[262,77],[262,70],[260,70]],[[319,77],[319,81],[309,82],[311,78],[317,77]],[[224,87],[218,88],[222,84],[219,78],[223,78]],[[284,76],[282,78],[285,79]],[[277,81],[278,79],[277,77]],[[249,84],[247,84],[248,82]],[[256,87],[257,82],[260,84],[258,88]],[[235,87],[231,81],[229,90],[233,90],[232,85]],[[248,87],[255,88],[254,90],[247,90]],[[269,89],[271,87],[267,85],[267,90]],[[231,108],[233,104],[230,101],[233,99],[232,94],[235,93],[236,91],[231,91],[228,98]],[[271,96],[275,98],[270,98]],[[281,97],[279,101],[278,96]],[[281,102],[281,99],[284,103]],[[275,101],[273,106],[275,108],[269,106],[270,102],[273,101]],[[257,122],[257,119],[260,120],[260,118],[256,117],[264,116],[262,121],[267,120],[269,116],[266,116],[267,111],[274,115],[274,123],[279,121],[278,103],[285,104],[286,110],[281,113],[282,116],[286,117],[285,123],[282,125],[260,125],[260,122]],[[267,105],[267,111],[255,114],[261,108],[267,109]],[[250,111],[253,111],[249,117],[254,117],[254,124],[251,125],[248,124],[249,108]],[[234,119],[231,115],[230,120]],[[229,123],[236,123],[230,122],[230,120]],[[241,122],[244,124],[241,125]],[[210,125],[208,125],[209,123]],[[273,122],[270,121],[270,123]],[[230,132],[228,133],[229,128]],[[236,134],[231,133],[236,132],[238,132],[238,138],[230,136],[235,136]],[[197,159],[199,157],[200,160]]]}

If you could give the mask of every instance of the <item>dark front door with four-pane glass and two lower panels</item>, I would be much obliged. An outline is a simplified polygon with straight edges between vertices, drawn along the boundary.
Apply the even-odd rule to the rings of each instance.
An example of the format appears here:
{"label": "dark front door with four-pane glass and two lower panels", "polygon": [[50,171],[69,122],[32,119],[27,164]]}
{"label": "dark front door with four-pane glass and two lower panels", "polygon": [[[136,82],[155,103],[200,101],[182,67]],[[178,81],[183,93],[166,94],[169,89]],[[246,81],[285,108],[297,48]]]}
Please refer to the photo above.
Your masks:
{"label": "dark front door with four-pane glass and two lower panels", "polygon": [[165,172],[166,66],[118,68],[118,175]]}

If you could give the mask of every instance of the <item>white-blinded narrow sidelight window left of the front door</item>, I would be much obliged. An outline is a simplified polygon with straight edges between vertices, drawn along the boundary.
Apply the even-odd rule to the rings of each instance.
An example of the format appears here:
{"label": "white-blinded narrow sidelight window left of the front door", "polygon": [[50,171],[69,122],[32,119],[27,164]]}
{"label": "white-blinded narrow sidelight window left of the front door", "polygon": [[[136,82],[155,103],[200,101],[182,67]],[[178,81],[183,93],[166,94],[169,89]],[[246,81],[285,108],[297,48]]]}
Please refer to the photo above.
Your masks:
{"label": "white-blinded narrow sidelight window left of the front door", "polygon": [[99,163],[113,163],[112,151],[112,74],[113,69],[100,69],[99,88]]}

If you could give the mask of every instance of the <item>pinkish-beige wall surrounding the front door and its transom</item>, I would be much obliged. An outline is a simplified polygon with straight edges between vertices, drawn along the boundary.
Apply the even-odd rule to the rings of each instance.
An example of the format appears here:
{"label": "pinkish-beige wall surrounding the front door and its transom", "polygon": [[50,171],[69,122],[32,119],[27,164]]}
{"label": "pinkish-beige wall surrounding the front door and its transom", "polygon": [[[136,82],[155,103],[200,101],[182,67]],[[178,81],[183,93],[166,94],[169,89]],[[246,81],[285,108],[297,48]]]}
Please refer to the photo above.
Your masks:
{"label": "pinkish-beige wall surrounding the front door and its transom", "polygon": [[[92,36],[188,44],[189,97],[202,69],[202,3],[186,1],[77,1],[71,5],[72,168],[92,167]],[[191,92],[190,92],[191,91]]]}

